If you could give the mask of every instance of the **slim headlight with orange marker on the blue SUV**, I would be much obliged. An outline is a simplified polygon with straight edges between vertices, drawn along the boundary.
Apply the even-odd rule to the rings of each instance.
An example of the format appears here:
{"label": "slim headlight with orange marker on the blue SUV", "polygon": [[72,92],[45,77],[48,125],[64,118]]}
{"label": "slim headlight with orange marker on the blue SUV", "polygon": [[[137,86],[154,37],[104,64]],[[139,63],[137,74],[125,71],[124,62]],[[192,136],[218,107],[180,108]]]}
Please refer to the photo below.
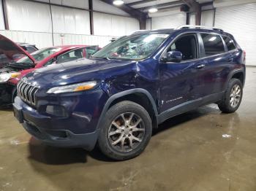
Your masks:
{"label": "slim headlight with orange marker on the blue SUV", "polygon": [[97,85],[96,81],[91,82],[83,82],[75,85],[64,85],[59,87],[50,88],[47,93],[72,93],[72,92],[80,92],[84,90],[91,90]]}

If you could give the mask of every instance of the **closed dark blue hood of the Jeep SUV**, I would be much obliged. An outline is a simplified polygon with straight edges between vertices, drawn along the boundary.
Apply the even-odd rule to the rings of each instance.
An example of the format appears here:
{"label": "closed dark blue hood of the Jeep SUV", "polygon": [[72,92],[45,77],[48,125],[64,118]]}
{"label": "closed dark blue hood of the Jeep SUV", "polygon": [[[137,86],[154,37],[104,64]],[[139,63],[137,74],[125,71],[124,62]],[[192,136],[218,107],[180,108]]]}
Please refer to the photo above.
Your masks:
{"label": "closed dark blue hood of the Jeep SUV", "polygon": [[39,87],[58,86],[91,79],[105,79],[131,71],[135,61],[117,61],[104,59],[80,59],[67,63],[56,63],[42,69],[37,69],[26,75],[29,81],[37,82]]}

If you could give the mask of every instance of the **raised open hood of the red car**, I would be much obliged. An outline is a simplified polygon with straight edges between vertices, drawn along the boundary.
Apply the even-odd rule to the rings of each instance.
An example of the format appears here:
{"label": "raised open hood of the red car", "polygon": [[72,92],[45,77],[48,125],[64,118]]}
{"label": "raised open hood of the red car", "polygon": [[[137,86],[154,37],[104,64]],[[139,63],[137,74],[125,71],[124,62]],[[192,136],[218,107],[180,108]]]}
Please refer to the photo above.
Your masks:
{"label": "raised open hood of the red car", "polygon": [[4,67],[7,63],[16,61],[17,58],[23,55],[28,56],[35,63],[34,58],[29,52],[26,52],[18,44],[0,34],[0,68]]}

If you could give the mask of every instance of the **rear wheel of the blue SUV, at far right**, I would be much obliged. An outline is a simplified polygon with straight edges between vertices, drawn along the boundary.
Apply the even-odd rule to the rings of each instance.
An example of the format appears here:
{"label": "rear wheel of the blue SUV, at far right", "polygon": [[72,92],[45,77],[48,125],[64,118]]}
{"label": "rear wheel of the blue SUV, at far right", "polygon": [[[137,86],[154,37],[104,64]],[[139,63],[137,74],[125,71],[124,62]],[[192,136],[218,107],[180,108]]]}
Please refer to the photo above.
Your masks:
{"label": "rear wheel of the blue SUV, at far right", "polygon": [[223,100],[218,104],[224,113],[236,112],[243,97],[243,87],[239,79],[230,79]]}

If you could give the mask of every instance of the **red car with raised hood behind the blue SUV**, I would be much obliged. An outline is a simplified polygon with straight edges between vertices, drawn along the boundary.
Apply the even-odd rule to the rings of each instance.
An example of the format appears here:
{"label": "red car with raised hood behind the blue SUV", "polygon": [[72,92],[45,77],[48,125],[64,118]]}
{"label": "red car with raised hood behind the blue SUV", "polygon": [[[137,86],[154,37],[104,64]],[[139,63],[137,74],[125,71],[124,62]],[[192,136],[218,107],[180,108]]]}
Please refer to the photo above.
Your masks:
{"label": "red car with raised hood behind the blue SUV", "polygon": [[[66,45],[48,47],[29,54],[18,44],[0,35],[0,106],[12,104],[21,77],[51,64],[89,58],[98,46]],[[18,58],[17,55],[23,55]]]}

